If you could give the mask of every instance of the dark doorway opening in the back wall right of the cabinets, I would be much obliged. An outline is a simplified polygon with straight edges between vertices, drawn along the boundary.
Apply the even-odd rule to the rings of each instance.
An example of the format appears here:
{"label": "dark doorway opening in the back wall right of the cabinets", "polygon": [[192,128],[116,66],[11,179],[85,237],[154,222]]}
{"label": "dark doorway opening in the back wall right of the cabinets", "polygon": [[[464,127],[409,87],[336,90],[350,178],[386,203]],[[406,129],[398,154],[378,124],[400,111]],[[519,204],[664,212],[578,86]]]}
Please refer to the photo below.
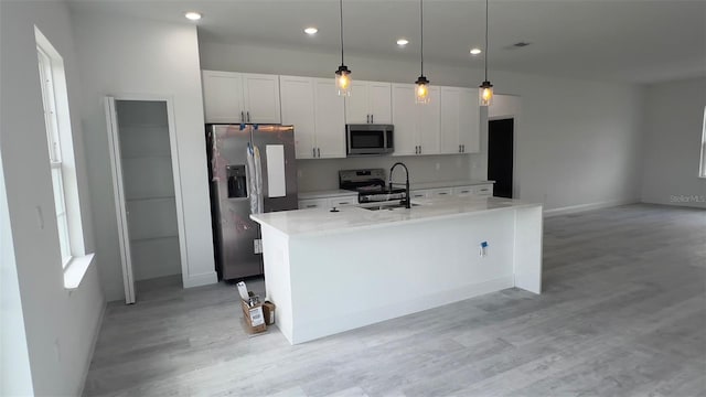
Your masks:
{"label": "dark doorway opening in the back wall right of the cabinets", "polygon": [[493,195],[512,198],[514,119],[488,122],[488,179],[495,181]]}

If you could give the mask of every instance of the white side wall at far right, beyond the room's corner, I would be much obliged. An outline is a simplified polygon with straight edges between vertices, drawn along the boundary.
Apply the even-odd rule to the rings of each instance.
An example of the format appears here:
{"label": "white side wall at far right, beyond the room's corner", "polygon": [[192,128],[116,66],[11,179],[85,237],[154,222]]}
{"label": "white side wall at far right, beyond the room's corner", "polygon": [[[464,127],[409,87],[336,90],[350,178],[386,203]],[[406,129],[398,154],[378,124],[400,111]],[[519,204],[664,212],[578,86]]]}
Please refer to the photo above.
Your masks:
{"label": "white side wall at far right, beyond the room's corner", "polygon": [[652,85],[645,106],[642,201],[706,208],[698,178],[706,78]]}

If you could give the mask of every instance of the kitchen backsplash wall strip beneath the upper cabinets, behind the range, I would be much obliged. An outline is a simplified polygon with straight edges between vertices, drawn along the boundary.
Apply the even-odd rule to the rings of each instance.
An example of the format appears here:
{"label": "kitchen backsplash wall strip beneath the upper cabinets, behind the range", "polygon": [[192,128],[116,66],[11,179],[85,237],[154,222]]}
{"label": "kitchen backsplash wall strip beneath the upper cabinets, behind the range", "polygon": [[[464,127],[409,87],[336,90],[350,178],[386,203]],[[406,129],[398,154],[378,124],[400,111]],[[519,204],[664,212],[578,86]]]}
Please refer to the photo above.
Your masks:
{"label": "kitchen backsplash wall strip beneath the upper cabinets, behind the range", "polygon": [[[339,189],[339,170],[382,168],[388,175],[389,168],[397,161],[407,165],[413,183],[485,179],[474,175],[473,164],[479,162],[477,158],[480,154],[297,160],[299,191]],[[403,178],[404,171],[396,170],[395,180]]]}

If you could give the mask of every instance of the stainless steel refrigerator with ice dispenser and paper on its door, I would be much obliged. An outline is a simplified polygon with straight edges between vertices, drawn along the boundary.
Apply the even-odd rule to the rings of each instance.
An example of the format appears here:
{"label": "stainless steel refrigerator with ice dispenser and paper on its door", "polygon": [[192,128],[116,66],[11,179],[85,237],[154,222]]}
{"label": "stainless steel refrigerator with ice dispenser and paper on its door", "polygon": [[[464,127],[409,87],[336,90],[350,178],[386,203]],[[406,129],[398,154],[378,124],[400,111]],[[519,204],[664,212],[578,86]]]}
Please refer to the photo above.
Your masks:
{"label": "stainless steel refrigerator with ice dispenser and paper on its door", "polygon": [[260,229],[249,215],[297,210],[295,128],[206,125],[206,142],[218,276],[261,275]]}

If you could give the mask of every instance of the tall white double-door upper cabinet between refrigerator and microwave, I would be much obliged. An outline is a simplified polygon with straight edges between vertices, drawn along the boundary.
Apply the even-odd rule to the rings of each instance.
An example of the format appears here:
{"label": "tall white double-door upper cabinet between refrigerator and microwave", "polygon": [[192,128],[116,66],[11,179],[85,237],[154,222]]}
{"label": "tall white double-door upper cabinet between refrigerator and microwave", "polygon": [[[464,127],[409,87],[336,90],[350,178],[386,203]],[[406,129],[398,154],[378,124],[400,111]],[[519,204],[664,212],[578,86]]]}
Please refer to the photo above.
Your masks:
{"label": "tall white double-door upper cabinet between refrigerator and microwave", "polygon": [[297,159],[345,157],[343,98],[330,78],[280,76],[282,124],[295,126]]}

